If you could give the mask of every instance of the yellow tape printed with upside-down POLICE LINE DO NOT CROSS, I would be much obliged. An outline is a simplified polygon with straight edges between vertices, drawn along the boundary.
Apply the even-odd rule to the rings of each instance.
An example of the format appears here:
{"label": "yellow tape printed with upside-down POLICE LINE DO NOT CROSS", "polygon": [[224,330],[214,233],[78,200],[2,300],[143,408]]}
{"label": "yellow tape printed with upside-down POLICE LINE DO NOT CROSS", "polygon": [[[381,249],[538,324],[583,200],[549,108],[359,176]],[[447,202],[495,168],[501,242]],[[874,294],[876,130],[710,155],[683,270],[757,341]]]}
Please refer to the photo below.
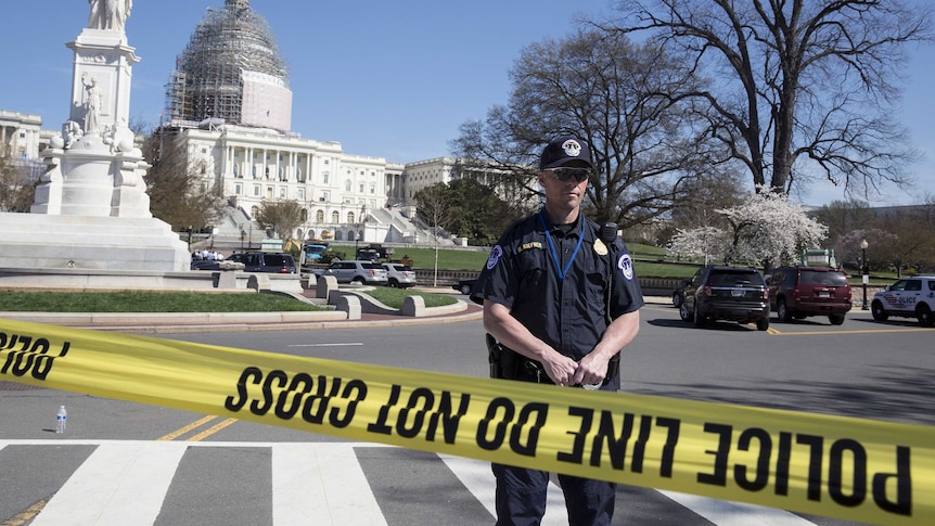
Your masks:
{"label": "yellow tape printed with upside-down POLICE LINE DO NOT CROSS", "polygon": [[848,521],[935,524],[933,426],[7,320],[0,380]]}

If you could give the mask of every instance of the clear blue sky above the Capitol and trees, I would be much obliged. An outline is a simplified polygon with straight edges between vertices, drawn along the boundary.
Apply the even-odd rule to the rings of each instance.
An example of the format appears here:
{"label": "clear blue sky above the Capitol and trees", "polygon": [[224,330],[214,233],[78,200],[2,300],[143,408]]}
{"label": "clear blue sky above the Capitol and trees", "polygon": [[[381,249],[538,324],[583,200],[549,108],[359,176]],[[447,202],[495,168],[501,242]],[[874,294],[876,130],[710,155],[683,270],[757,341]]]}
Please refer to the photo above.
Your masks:
{"label": "clear blue sky above the Capitol and trees", "polygon": [[[919,0],[923,1],[923,0]],[[207,8],[223,0],[136,0],[127,38],[133,67],[130,115],[157,124],[176,56]],[[469,119],[508,102],[508,72],[520,50],[568,33],[576,14],[598,16],[609,1],[252,0],[291,67],[293,131],[341,142],[344,151],[408,163],[449,155]],[[0,108],[39,114],[56,129],[68,115],[73,54],[65,47],[88,22],[82,0],[0,0],[4,44]],[[932,47],[914,50],[904,123],[926,159],[911,168],[915,192],[888,189],[880,204],[935,194],[935,81]],[[816,185],[820,205],[842,191]]]}

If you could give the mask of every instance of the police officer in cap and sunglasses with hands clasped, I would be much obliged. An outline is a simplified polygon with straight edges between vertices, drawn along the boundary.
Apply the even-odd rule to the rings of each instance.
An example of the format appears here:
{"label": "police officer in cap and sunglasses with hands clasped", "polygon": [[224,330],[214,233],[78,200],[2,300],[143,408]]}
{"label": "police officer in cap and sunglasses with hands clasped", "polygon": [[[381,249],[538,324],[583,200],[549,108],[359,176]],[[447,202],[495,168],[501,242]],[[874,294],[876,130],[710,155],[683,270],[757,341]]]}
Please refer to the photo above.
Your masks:
{"label": "police officer in cap and sunglasses with hands clasped", "polygon": [[[499,349],[499,377],[562,387],[619,388],[618,354],[639,332],[643,296],[616,235],[581,213],[593,171],[585,141],[560,137],[542,151],[542,209],[513,223],[490,251],[472,292]],[[561,392],[555,392],[561,396]],[[547,472],[495,463],[498,525],[537,525]],[[616,485],[559,475],[573,525],[611,524]]]}

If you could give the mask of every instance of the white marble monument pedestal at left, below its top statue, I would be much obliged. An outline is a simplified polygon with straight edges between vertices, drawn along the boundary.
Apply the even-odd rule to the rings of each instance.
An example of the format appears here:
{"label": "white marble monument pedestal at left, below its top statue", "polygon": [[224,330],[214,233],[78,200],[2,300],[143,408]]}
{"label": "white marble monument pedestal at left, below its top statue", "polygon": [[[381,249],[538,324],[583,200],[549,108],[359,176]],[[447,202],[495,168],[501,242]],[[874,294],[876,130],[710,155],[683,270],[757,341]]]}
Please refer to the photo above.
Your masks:
{"label": "white marble monument pedestal at left, below its top statue", "polygon": [[31,214],[0,214],[0,268],[189,271],[188,245],[150,213],[150,165],[128,127],[133,48],[105,29],[68,48],[68,120],[41,154]]}

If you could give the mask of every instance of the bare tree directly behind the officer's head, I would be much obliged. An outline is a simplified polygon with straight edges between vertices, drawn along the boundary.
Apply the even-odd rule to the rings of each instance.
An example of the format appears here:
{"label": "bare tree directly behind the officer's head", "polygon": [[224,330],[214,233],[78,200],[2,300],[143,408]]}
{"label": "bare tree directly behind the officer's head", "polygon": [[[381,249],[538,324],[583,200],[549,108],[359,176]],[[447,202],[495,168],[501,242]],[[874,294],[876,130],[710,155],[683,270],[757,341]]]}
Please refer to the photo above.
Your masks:
{"label": "bare tree directly behind the officer's head", "polygon": [[585,139],[597,167],[588,214],[624,229],[666,214],[686,197],[684,182],[703,156],[704,138],[679,93],[701,87],[657,46],[579,29],[528,46],[510,76],[509,105],[495,106],[483,123],[462,125],[452,143],[458,155],[518,172],[528,198],[539,192],[529,175],[542,145],[564,133]]}

